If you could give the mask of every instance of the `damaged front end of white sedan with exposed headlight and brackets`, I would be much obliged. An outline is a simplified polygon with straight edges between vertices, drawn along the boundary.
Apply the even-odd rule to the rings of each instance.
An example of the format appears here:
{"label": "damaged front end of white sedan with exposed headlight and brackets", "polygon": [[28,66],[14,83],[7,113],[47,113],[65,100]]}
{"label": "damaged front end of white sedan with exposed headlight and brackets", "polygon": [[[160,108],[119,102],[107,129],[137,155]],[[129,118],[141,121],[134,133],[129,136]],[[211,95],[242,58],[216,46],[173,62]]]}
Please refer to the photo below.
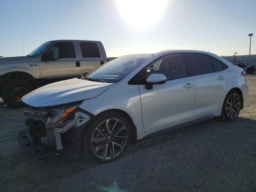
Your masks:
{"label": "damaged front end of white sedan with exposed headlight and brackets", "polygon": [[81,103],[39,108],[30,106],[24,112],[28,125],[26,137],[30,144],[41,149],[63,149],[62,134],[82,126],[93,116],[79,108]]}

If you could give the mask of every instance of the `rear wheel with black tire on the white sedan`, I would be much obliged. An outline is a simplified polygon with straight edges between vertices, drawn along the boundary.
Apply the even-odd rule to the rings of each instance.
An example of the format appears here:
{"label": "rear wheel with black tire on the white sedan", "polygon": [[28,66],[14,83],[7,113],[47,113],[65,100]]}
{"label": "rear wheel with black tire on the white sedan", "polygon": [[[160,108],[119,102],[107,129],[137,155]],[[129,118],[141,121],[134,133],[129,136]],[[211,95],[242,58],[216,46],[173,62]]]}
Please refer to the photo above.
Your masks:
{"label": "rear wheel with black tire on the white sedan", "polygon": [[231,90],[227,94],[223,102],[222,112],[221,112],[222,120],[234,121],[240,113],[241,104],[242,104],[241,95],[237,91]]}

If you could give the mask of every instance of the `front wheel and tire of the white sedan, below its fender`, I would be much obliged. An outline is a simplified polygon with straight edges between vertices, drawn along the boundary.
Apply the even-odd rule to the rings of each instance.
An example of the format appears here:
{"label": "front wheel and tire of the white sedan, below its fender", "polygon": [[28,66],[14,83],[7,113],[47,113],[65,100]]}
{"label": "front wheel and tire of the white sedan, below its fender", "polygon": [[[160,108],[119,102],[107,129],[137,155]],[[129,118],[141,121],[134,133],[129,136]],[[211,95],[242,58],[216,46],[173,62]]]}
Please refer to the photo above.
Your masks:
{"label": "front wheel and tire of the white sedan, below its fender", "polygon": [[130,142],[130,125],[116,112],[96,116],[84,130],[82,151],[90,160],[111,162],[122,156]]}

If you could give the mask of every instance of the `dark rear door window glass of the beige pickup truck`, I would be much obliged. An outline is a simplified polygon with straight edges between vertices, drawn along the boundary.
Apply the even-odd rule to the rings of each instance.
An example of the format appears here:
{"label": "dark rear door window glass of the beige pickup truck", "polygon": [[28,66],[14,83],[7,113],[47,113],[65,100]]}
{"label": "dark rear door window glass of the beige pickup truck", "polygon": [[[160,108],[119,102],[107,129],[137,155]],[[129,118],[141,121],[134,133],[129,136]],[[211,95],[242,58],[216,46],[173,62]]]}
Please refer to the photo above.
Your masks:
{"label": "dark rear door window glass of the beige pickup truck", "polygon": [[94,42],[80,42],[83,58],[100,58],[98,45]]}

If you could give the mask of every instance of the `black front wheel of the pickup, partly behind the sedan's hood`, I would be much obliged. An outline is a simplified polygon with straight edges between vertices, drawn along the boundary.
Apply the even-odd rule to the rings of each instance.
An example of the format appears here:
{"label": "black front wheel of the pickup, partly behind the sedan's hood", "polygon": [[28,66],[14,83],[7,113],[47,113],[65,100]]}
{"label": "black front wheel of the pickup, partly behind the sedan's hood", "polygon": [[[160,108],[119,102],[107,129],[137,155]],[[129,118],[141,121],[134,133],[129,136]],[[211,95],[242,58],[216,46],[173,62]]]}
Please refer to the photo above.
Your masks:
{"label": "black front wheel of the pickup, partly behind the sedan's hood", "polygon": [[12,108],[22,108],[26,104],[21,98],[34,90],[34,88],[26,80],[11,81],[2,90],[4,102]]}

